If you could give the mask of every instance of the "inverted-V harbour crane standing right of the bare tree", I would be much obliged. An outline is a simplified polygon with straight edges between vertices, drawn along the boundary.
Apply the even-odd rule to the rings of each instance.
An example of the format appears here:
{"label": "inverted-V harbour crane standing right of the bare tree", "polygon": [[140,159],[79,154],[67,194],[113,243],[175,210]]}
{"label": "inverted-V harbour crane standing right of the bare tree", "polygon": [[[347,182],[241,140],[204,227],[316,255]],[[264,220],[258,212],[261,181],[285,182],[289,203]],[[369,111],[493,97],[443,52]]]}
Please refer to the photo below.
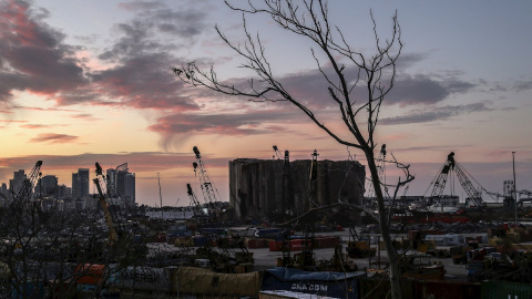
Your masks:
{"label": "inverted-V harbour crane standing right of the bare tree", "polygon": [[482,200],[480,193],[473,187],[473,184],[468,178],[466,172],[460,166],[460,164],[454,161],[454,152],[451,152],[447,156],[447,161],[433,183],[433,189],[430,196],[430,200],[439,200],[441,198],[443,189],[446,188],[449,173],[451,172],[454,172],[454,174],[457,175],[460,184],[462,185],[462,188],[469,196],[469,200],[472,202],[473,205],[477,207],[485,207],[485,203]]}

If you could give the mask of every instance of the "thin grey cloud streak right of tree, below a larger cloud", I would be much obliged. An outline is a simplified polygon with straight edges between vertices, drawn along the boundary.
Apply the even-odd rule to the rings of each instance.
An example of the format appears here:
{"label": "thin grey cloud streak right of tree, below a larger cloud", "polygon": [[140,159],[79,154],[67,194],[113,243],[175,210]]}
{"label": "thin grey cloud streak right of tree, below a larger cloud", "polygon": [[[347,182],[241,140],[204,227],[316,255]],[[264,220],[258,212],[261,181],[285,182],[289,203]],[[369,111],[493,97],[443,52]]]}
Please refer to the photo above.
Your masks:
{"label": "thin grey cloud streak right of tree, below a larger cloud", "polygon": [[403,116],[395,116],[379,120],[382,125],[429,123],[442,121],[452,116],[469,114],[473,112],[490,111],[483,103],[474,103],[459,106],[444,106],[434,109],[416,110]]}

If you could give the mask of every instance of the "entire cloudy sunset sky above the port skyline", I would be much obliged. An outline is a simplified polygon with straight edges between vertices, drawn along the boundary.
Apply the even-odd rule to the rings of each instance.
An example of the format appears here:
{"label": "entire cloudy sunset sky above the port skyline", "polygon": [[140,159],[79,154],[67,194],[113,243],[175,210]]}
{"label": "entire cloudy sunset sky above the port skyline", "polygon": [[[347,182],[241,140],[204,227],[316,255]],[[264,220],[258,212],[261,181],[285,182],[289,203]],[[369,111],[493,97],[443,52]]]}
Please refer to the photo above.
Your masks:
{"label": "entire cloudy sunset sky above the port skyline", "polygon": [[[430,195],[450,152],[475,187],[503,193],[515,168],[516,188],[532,189],[532,2],[329,3],[332,23],[368,55],[370,11],[385,40],[396,10],[405,48],[377,142],[410,165],[416,179],[405,194]],[[90,168],[92,178],[95,162],[127,163],[139,204],[187,206],[186,184],[198,179],[194,146],[221,200],[228,200],[228,162],[272,158],[273,145],[290,159],[317,150],[319,159],[366,164],[361,152],[339,145],[286,102],[222,96],[175,78],[172,66],[193,61],[213,65],[226,82],[252,78],[215,31],[242,43],[242,21],[219,0],[0,0],[0,183],[37,161],[43,175],[66,186],[78,168]],[[340,130],[313,44],[265,16],[246,22],[279,81]],[[387,182],[395,181],[387,168]]]}

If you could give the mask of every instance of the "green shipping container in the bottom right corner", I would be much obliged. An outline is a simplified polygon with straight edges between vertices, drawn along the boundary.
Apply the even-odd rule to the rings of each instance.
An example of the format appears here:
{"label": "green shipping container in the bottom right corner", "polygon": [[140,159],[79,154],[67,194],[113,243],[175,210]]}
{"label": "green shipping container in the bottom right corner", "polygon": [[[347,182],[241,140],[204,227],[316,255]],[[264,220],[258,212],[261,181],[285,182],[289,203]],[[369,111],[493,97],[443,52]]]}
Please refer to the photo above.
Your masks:
{"label": "green shipping container in the bottom right corner", "polygon": [[510,281],[482,281],[482,299],[532,298],[532,285]]}

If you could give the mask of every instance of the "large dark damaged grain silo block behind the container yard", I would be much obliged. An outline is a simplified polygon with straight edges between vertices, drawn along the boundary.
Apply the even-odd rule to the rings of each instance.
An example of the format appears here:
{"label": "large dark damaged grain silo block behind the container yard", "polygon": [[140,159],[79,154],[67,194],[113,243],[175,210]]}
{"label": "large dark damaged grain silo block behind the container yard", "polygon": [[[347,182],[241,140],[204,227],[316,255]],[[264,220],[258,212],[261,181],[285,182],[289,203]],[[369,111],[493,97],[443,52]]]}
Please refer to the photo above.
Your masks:
{"label": "large dark damaged grain silo block behind the container yard", "polygon": [[[338,202],[360,204],[365,166],[357,161],[289,162],[237,158],[229,162],[229,203],[237,219],[286,220]],[[337,206],[319,217],[341,214]],[[332,214],[332,215],[331,215]],[[316,216],[318,217],[318,216]]]}

